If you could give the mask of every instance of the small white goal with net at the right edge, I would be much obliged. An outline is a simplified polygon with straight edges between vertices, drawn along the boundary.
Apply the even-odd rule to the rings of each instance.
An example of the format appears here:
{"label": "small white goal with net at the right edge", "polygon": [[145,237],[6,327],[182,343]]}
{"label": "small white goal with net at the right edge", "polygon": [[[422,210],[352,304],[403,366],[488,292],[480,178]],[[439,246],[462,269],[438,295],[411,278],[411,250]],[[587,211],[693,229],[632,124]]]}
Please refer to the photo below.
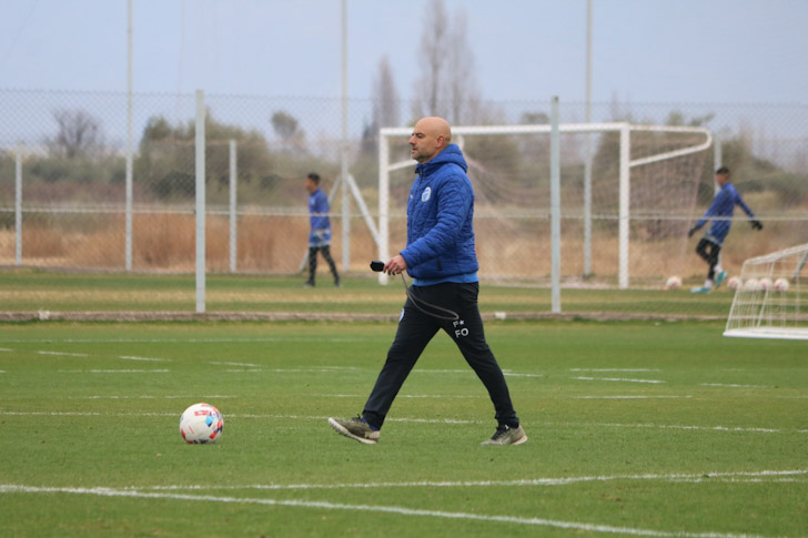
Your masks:
{"label": "small white goal with net at the right edge", "polygon": [[744,262],[724,336],[808,339],[808,243]]}

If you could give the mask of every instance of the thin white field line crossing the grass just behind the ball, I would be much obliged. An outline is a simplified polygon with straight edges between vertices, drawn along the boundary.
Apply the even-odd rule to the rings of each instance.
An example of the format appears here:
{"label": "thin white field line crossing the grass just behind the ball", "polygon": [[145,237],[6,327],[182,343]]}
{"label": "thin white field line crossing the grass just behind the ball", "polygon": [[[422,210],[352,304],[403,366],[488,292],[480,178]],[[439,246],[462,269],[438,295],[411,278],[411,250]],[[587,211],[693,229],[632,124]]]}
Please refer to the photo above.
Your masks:
{"label": "thin white field line crossing the grass just behind the ball", "polygon": [[[179,397],[179,396],[178,396]],[[213,399],[219,396],[199,396],[201,399]],[[223,398],[234,396],[221,396]],[[12,416],[110,416],[110,417],[173,417],[175,413],[84,413],[84,412],[14,412],[2,410],[3,415]],[[327,416],[301,416],[301,415],[269,415],[269,414],[223,414],[225,418],[273,418],[283,420],[327,420]],[[483,424],[482,420],[467,420],[455,418],[392,418],[387,423],[412,423],[412,424]],[[677,424],[613,424],[613,423],[537,423],[536,426],[564,426],[564,427],[602,427],[602,428],[657,428],[657,429],[681,429],[701,432],[737,432],[748,434],[808,434],[808,429],[778,429],[778,428],[744,428],[736,426],[688,426]]]}

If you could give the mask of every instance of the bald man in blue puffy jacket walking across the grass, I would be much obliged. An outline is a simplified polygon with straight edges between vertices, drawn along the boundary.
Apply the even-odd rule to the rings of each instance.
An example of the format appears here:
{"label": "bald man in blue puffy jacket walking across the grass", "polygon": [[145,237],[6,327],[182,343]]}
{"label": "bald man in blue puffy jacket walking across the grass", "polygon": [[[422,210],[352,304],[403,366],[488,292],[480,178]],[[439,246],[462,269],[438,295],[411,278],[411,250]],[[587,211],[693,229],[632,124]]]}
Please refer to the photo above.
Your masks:
{"label": "bald man in blue puffy jacket walking across the grass", "polygon": [[413,277],[411,293],[362,415],[329,418],[340,434],[376,444],[387,412],[430,341],[443,329],[488,390],[496,432],[484,445],[519,445],[519,425],[505,376],[485,339],[477,306],[479,283],[474,248],[474,190],[466,161],[452,143],[442,118],[423,118],[410,136],[415,180],[407,202],[407,244],[384,264],[384,272]]}

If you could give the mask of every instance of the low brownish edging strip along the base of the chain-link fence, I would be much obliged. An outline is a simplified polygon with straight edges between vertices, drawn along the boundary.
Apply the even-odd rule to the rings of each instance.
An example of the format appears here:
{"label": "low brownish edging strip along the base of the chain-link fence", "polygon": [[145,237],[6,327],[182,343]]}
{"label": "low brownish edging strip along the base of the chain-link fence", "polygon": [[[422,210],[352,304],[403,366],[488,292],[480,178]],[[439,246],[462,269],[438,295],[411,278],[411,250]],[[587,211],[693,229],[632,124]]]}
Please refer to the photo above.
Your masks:
{"label": "low brownish edging strip along the base of the chain-link fence", "polygon": [[[481,313],[484,321],[590,321],[590,322],[726,322],[726,316],[629,314],[615,312],[495,312]],[[319,312],[0,312],[2,322],[395,322],[398,314]]]}

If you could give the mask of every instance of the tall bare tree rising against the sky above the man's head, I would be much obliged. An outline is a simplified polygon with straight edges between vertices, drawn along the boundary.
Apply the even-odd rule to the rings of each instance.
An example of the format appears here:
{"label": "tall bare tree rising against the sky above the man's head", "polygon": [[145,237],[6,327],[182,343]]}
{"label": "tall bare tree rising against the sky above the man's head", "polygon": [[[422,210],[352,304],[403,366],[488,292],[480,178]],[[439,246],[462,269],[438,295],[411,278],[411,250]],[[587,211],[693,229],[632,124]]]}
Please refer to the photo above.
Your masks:
{"label": "tall bare tree rising against the sky above the man's head", "polygon": [[444,0],[436,0],[427,3],[425,18],[413,114],[441,115],[452,123],[463,123],[481,101],[465,12],[455,13],[450,21]]}

